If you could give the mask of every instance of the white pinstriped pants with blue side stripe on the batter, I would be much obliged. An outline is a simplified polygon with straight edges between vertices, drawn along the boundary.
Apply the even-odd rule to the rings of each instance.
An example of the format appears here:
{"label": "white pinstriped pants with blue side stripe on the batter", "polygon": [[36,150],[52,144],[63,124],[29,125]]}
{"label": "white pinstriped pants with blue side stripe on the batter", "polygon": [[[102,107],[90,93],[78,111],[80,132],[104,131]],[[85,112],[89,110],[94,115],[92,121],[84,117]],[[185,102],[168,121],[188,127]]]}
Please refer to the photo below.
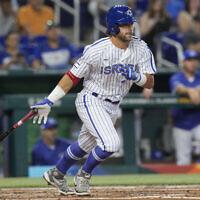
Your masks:
{"label": "white pinstriped pants with blue side stripe on the batter", "polygon": [[84,90],[78,94],[75,104],[83,122],[78,138],[80,147],[88,153],[96,145],[103,151],[118,151],[120,140],[114,123],[119,105],[106,102],[103,98],[95,97]]}

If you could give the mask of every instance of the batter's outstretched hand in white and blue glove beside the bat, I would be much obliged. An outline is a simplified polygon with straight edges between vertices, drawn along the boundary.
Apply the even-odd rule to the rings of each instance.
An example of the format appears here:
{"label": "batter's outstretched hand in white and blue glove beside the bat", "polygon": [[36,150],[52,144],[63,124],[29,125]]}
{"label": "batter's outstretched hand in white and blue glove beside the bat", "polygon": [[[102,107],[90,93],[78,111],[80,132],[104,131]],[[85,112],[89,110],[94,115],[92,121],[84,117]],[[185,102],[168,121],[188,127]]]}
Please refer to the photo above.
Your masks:
{"label": "batter's outstretched hand in white and blue glove beside the bat", "polygon": [[32,105],[31,109],[35,108],[38,111],[37,114],[33,118],[33,123],[35,124],[36,122],[38,122],[38,124],[41,124],[42,119],[43,119],[44,124],[46,124],[48,114],[51,111],[52,105],[53,105],[53,103],[51,101],[49,101],[49,99],[47,99],[47,98],[44,99],[44,101],[41,103]]}

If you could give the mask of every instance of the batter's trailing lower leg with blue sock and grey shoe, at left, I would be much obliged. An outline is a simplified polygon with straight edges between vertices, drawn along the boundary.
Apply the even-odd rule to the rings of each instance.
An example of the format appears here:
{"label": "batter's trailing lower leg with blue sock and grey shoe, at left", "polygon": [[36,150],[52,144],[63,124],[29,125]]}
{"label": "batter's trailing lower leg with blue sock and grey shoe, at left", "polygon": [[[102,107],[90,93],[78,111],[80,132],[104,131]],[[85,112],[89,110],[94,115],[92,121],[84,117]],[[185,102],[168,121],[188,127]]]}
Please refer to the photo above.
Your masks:
{"label": "batter's trailing lower leg with blue sock and grey shoe, at left", "polygon": [[[83,140],[87,141],[87,149],[92,149],[96,141],[93,136],[87,133],[87,130],[85,129],[85,126],[82,126],[81,132],[80,132],[81,138]],[[82,137],[84,135],[85,137]],[[87,137],[87,138],[86,138]],[[86,149],[86,151],[87,151]],[[63,158],[57,163],[56,167],[53,169],[48,170],[44,173],[44,179],[51,185],[56,186],[61,194],[67,195],[72,194],[74,191],[72,191],[64,178],[67,170],[78,160],[80,160],[84,155],[87,154],[87,152],[84,151],[80,145],[79,142],[74,142],[71,144],[66,151],[64,152]]]}

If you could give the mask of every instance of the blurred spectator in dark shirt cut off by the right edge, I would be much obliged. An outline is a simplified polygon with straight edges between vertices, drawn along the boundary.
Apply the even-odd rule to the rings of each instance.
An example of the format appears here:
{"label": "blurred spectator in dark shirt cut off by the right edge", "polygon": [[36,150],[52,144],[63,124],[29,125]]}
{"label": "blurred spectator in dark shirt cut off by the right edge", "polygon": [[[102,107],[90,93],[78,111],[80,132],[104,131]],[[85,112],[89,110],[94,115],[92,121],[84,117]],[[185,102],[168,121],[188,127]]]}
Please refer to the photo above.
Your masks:
{"label": "blurred spectator in dark shirt cut off by the right edge", "polygon": [[193,49],[200,55],[200,13],[194,17],[194,30],[185,34],[184,48]]}

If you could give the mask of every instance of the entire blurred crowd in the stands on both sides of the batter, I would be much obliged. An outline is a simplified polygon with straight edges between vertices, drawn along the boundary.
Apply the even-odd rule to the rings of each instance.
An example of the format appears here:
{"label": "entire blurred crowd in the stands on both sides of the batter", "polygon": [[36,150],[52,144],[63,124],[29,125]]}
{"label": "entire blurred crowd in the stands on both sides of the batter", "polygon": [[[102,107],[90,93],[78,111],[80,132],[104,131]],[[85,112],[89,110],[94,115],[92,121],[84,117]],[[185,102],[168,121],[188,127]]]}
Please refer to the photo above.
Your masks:
{"label": "entire blurred crowd in the stands on both sides of the batter", "polygon": [[[184,49],[200,53],[199,0],[101,0],[100,3],[107,7],[127,4],[133,8],[140,36],[155,57],[159,36],[171,31],[183,33]],[[93,27],[94,8],[98,9],[94,4],[94,0],[80,1],[81,40]],[[49,5],[45,0],[0,0],[0,69],[65,69],[74,63],[77,50],[61,35]]]}

